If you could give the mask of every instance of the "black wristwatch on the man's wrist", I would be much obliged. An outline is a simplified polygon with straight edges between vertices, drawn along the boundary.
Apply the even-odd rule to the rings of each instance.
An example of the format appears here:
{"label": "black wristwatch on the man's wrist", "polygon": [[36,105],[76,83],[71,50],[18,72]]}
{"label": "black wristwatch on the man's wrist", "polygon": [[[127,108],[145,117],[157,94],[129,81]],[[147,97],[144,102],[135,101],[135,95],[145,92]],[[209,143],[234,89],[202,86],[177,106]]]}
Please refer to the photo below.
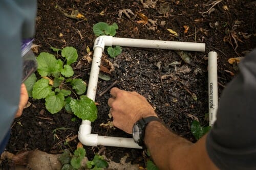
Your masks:
{"label": "black wristwatch on the man's wrist", "polygon": [[149,116],[149,117],[141,118],[133,126],[133,139],[141,147],[144,147],[144,136],[145,136],[146,126],[148,123],[150,123],[152,121],[160,122],[160,119],[156,116]]}

